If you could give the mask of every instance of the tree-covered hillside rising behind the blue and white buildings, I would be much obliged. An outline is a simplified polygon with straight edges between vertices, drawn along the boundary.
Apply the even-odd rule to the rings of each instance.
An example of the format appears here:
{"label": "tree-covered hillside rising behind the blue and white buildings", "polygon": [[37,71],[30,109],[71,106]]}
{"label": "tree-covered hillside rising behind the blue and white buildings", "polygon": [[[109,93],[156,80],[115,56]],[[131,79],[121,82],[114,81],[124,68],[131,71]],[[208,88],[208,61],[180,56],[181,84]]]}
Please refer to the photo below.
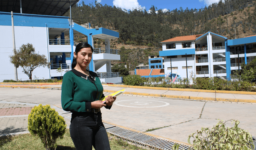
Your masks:
{"label": "tree-covered hillside rising behind the blue and white buildings", "polygon": [[[121,8],[81,5],[72,8],[72,18],[78,24],[90,22],[95,26],[119,32],[120,38],[110,41],[110,47],[120,49],[121,62],[131,70],[139,63],[148,64],[149,55],[162,50],[160,41],[176,36],[204,34],[208,31],[228,39],[256,34],[255,1],[227,0],[202,10],[172,10],[162,12],[154,6],[153,13],[143,10],[124,12]],[[154,13],[158,11],[158,14]],[[68,13],[67,13],[68,14]],[[74,41],[87,41],[82,34],[74,35]],[[94,47],[104,47],[104,40],[94,39]]]}

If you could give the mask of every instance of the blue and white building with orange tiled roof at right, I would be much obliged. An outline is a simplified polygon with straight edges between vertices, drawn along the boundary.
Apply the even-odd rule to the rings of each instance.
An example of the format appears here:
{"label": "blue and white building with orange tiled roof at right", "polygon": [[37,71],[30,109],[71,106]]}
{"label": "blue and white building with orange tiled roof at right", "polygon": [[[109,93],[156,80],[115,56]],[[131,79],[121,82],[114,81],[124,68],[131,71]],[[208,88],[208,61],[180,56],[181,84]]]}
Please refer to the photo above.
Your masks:
{"label": "blue and white building with orange tiled roof at right", "polygon": [[165,74],[177,73],[182,78],[219,77],[231,79],[242,63],[256,57],[256,35],[228,39],[207,32],[164,40],[159,55],[164,57]]}

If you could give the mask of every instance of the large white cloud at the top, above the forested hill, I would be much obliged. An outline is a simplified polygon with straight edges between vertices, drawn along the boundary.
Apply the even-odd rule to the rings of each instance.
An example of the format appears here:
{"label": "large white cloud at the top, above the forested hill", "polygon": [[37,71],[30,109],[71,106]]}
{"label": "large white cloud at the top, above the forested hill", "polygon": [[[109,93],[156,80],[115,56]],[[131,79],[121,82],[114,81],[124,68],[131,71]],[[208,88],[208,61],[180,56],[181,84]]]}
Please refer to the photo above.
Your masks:
{"label": "large white cloud at the top, above the forested hill", "polygon": [[126,10],[134,10],[135,8],[146,9],[146,7],[140,6],[138,0],[114,0],[113,5]]}

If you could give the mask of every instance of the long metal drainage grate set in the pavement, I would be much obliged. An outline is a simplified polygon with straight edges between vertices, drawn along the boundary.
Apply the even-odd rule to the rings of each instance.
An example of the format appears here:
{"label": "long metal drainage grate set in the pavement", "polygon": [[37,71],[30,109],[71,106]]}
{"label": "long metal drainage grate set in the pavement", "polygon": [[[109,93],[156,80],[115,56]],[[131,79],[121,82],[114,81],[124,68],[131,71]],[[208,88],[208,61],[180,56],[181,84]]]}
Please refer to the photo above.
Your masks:
{"label": "long metal drainage grate set in the pavement", "polygon": [[[147,146],[149,148],[156,148],[160,150],[171,150],[175,142],[168,140],[163,140],[161,138],[156,138],[153,136],[148,136],[146,134],[130,131],[118,126],[104,123],[106,131],[113,134],[119,138],[139,144],[142,146]],[[189,150],[191,147],[187,145],[180,144],[179,150]]]}

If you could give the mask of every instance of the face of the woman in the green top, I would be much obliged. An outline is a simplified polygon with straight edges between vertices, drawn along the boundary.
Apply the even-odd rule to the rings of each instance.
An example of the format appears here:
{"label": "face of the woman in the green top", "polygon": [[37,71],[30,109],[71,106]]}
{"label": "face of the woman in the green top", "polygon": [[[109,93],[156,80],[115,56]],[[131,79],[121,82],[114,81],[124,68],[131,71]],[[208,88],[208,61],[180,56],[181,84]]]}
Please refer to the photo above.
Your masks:
{"label": "face of the woman in the green top", "polygon": [[90,47],[82,48],[78,53],[74,52],[74,57],[76,57],[76,65],[86,69],[92,60],[92,49]]}

